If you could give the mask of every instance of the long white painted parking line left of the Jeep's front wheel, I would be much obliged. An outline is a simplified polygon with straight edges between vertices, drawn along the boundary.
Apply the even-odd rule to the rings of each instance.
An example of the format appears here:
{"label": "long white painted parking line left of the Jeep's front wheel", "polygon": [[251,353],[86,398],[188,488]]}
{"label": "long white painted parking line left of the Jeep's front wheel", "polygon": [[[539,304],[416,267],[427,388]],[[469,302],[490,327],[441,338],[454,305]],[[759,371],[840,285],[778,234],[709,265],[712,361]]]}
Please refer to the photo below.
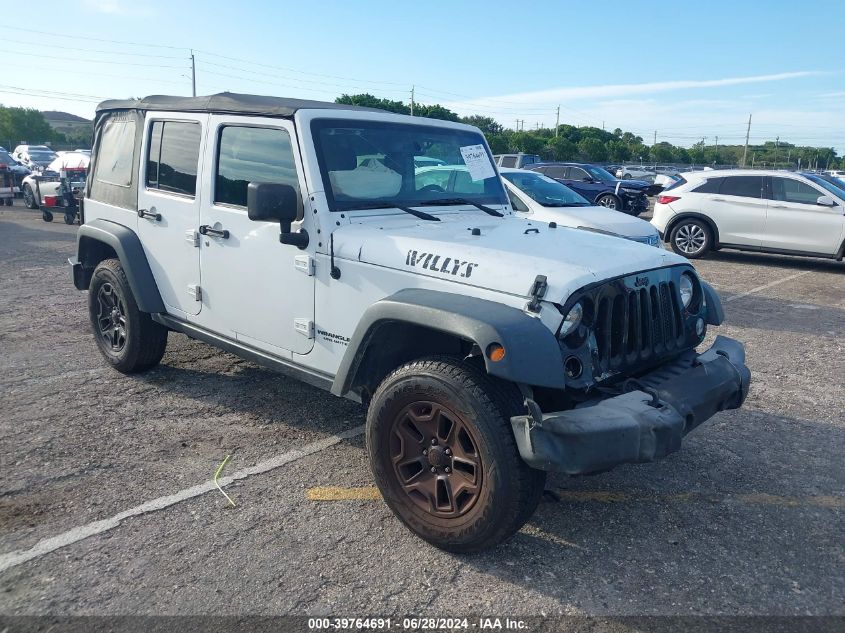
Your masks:
{"label": "long white painted parking line left of the Jeep's front wheel", "polygon": [[[311,444],[308,444],[307,446],[304,446],[302,448],[294,449],[292,451],[288,451],[287,453],[282,453],[281,455],[271,457],[270,459],[266,459],[263,462],[257,463],[255,466],[251,466],[250,468],[244,468],[235,473],[232,473],[228,477],[221,477],[217,480],[217,482],[221,486],[228,486],[230,483],[238,479],[246,479],[247,477],[251,477],[253,475],[260,475],[261,473],[266,473],[275,468],[279,468],[286,464],[290,464],[291,462],[295,462],[298,459],[302,459],[303,457],[307,457],[308,455],[313,455],[314,453],[323,451],[331,446],[334,446],[335,444],[339,444],[343,440],[348,440],[350,438],[362,435],[363,433],[364,426],[356,426],[355,428],[349,429],[348,431],[338,433],[337,435],[332,435],[322,440],[317,440],[316,442],[312,442]],[[164,508],[168,508],[177,503],[181,503],[182,501],[187,501],[188,499],[193,499],[194,497],[204,495],[206,492],[211,492],[212,490],[217,490],[217,487],[214,485],[213,480],[209,480],[205,483],[192,486],[190,488],[185,488],[184,490],[180,490],[179,492],[176,492],[172,495],[167,495],[165,497],[159,497],[158,499],[147,501],[146,503],[142,503],[141,505],[135,506],[134,508],[130,508],[129,510],[124,510],[123,512],[116,514],[108,519],[94,521],[93,523],[88,523],[87,525],[75,527],[71,530],[68,530],[67,532],[62,532],[61,534],[58,534],[56,536],[43,539],[41,541],[38,541],[38,543],[36,543],[30,549],[17,550],[14,552],[9,552],[8,554],[3,554],[2,556],[0,556],[0,572],[6,571],[7,569],[11,569],[12,567],[16,567],[17,565],[21,565],[22,563],[30,561],[34,558],[44,556],[45,554],[49,554],[50,552],[54,552],[61,547],[66,547],[68,545],[72,545],[73,543],[78,543],[79,541],[84,540],[90,536],[102,534],[103,532],[113,530],[114,528],[119,526],[121,521],[123,521],[124,519],[139,516],[141,514],[146,514],[148,512],[163,510]]]}

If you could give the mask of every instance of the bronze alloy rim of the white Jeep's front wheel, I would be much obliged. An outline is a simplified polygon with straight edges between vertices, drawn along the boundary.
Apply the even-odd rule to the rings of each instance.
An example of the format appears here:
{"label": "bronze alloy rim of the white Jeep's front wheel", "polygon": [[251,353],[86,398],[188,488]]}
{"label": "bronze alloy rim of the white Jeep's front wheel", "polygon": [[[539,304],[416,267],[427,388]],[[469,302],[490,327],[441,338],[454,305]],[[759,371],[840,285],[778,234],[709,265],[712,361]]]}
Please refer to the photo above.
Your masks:
{"label": "bronze alloy rim of the white Jeep's front wheel", "polygon": [[390,455],[400,486],[421,510],[456,518],[478,499],[484,476],[478,442],[442,405],[417,401],[402,409],[390,431]]}

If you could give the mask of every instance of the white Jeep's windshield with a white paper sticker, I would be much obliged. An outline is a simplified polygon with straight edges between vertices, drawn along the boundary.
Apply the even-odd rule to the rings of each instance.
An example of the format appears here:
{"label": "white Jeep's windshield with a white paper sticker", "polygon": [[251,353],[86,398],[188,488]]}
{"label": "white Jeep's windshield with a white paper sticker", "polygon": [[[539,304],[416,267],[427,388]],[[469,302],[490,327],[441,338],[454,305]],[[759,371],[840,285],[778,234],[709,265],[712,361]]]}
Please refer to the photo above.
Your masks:
{"label": "white Jeep's windshield with a white paper sticker", "polygon": [[311,131],[332,211],[458,198],[507,204],[478,132],[348,119],[316,119]]}

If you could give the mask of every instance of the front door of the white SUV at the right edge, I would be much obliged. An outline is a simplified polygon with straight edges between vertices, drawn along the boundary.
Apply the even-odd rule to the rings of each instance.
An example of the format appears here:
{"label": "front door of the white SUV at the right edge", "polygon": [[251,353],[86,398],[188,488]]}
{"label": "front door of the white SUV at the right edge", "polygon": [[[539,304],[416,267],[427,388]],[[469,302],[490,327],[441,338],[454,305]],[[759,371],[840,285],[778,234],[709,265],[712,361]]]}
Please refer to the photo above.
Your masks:
{"label": "front door of the white SUV at the right edge", "polygon": [[845,209],[825,207],[819,196],[833,197],[821,187],[789,176],[769,179],[765,248],[833,255],[842,244]]}

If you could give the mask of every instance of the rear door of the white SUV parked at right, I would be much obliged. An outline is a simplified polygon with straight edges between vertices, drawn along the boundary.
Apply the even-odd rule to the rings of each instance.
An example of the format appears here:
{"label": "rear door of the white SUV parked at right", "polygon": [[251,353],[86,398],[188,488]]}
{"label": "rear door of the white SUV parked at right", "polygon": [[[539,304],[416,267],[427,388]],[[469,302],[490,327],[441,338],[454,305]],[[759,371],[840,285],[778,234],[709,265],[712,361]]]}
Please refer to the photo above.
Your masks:
{"label": "rear door of the white SUV parked at right", "polygon": [[726,176],[717,192],[696,189],[702,196],[702,210],[719,229],[724,244],[759,247],[766,226],[766,199],[762,176]]}

